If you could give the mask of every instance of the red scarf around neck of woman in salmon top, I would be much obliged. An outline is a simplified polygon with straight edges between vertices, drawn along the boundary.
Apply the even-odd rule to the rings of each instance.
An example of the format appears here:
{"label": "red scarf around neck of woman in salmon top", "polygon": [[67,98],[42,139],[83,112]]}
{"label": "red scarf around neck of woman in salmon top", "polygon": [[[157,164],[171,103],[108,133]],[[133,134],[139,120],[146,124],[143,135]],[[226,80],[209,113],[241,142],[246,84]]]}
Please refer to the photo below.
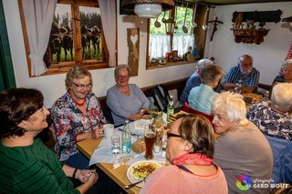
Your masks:
{"label": "red scarf around neck of woman in salmon top", "polygon": [[172,164],[183,165],[183,164],[196,164],[208,166],[213,164],[214,159],[208,158],[205,154],[201,153],[186,153],[182,156],[178,156],[172,159]]}

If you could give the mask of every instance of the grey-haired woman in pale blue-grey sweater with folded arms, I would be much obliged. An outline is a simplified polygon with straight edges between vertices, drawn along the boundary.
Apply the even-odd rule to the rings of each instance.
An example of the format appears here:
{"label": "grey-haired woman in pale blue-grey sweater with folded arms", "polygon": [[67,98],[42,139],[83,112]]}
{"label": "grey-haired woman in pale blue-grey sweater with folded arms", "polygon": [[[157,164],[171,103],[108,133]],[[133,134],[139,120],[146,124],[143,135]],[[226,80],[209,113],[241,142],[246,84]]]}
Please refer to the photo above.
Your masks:
{"label": "grey-haired woman in pale blue-grey sweater with folded arms", "polygon": [[149,100],[135,84],[129,84],[130,67],[119,65],[115,68],[116,85],[107,92],[107,105],[110,107],[115,126],[124,124],[125,120],[149,118],[144,115],[149,107]]}

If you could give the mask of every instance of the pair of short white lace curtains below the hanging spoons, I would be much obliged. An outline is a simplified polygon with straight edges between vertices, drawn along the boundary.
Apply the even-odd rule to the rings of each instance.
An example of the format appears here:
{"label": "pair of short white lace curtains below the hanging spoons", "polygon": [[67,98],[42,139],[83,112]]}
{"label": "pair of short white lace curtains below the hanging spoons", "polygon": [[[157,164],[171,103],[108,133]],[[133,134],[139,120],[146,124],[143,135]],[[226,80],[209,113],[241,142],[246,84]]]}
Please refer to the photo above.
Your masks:
{"label": "pair of short white lace curtains below the hanging spoons", "polygon": [[[165,56],[166,53],[171,52],[170,36],[165,35],[151,35],[150,36],[150,58],[158,58]],[[183,56],[188,51],[188,47],[194,45],[193,35],[173,36],[172,50],[178,50],[178,56]]]}

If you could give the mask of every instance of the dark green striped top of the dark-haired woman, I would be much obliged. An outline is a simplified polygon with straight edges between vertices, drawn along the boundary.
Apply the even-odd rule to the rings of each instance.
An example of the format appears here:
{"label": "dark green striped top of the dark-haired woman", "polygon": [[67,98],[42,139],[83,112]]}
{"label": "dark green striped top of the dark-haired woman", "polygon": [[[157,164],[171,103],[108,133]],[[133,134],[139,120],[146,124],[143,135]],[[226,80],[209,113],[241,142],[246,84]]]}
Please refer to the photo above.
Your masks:
{"label": "dark green striped top of the dark-haired woman", "polygon": [[0,141],[1,193],[79,193],[66,177],[53,151],[40,139],[26,147]]}

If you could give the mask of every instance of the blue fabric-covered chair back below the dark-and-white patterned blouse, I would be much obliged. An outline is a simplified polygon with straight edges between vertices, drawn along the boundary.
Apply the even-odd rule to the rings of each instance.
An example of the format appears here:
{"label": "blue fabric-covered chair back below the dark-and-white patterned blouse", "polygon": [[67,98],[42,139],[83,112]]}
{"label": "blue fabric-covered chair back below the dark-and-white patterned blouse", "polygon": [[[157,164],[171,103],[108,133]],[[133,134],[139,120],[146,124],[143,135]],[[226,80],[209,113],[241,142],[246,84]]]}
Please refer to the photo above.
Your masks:
{"label": "blue fabric-covered chair back below the dark-and-white patterned blouse", "polygon": [[[266,135],[265,135],[266,136]],[[266,136],[273,151],[273,175],[275,183],[292,183],[292,141]]]}

